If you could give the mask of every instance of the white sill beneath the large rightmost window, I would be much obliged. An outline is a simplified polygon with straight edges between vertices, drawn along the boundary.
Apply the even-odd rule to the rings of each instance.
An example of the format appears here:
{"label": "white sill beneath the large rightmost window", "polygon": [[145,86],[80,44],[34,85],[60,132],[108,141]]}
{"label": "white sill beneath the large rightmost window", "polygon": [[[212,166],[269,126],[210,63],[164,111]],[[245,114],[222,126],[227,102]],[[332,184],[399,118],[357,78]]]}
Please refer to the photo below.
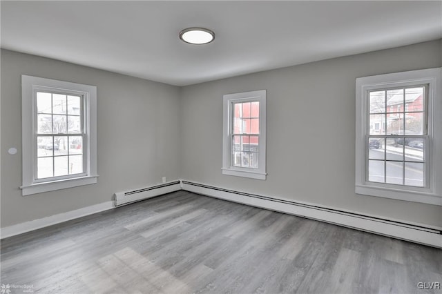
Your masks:
{"label": "white sill beneath the large rightmost window", "polygon": [[442,197],[435,193],[426,193],[412,190],[384,188],[379,186],[356,185],[356,194],[369,195],[409,202],[419,202],[442,206]]}

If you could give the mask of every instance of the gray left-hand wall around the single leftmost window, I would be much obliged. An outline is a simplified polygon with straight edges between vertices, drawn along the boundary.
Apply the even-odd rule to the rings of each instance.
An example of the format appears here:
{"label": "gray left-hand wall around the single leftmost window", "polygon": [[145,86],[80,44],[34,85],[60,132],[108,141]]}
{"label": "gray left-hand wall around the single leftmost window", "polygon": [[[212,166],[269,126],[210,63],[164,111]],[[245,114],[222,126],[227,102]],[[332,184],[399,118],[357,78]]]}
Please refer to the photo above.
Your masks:
{"label": "gray left-hand wall around the single leftmost window", "polygon": [[[21,196],[21,75],[97,86],[98,184]],[[1,226],[111,201],[179,177],[175,86],[1,50]],[[8,148],[19,152],[9,155]]]}

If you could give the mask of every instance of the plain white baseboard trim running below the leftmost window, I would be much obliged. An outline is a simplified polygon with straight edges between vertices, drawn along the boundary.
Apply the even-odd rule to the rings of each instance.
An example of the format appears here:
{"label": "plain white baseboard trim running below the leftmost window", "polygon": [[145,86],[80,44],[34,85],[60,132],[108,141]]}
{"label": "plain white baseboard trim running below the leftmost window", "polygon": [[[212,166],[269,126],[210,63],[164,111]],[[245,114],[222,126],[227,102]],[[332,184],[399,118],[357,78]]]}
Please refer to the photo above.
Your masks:
{"label": "plain white baseboard trim running below the leftmost window", "polygon": [[84,208],[79,208],[76,210],[71,210],[68,211],[67,213],[59,213],[58,215],[51,215],[50,217],[35,219],[30,222],[23,222],[21,224],[6,226],[5,228],[0,229],[0,239],[12,237],[15,235],[20,235],[23,233],[28,233],[30,231],[35,231],[39,228],[52,226],[54,224],[59,224],[61,222],[67,222],[68,220],[77,219],[79,217],[84,217],[86,215],[92,215],[94,213],[100,213],[104,210],[109,210],[112,208],[115,208],[114,202],[108,201],[100,204],[95,204],[92,206],[87,206]]}

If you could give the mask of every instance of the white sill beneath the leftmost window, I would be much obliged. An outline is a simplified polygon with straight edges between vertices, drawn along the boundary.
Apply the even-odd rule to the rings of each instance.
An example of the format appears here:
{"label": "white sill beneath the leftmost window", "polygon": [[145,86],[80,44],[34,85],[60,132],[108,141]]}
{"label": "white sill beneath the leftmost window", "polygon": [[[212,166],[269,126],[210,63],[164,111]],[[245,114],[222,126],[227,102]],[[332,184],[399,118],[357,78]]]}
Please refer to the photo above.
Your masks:
{"label": "white sill beneath the leftmost window", "polygon": [[96,184],[97,177],[98,175],[91,175],[87,177],[76,177],[74,179],[62,179],[59,181],[32,184],[30,186],[21,186],[21,195],[26,196],[54,190],[73,188],[77,186]]}

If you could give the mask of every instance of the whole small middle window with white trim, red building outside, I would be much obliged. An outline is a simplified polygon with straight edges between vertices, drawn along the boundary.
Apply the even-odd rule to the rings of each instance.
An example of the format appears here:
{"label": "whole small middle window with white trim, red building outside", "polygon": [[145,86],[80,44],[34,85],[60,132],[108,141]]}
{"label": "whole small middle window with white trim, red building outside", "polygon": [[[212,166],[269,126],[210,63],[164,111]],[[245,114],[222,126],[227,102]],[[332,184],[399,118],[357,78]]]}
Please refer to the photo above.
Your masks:
{"label": "whole small middle window with white trim, red building outside", "polygon": [[222,173],[266,179],[266,90],[224,95]]}

